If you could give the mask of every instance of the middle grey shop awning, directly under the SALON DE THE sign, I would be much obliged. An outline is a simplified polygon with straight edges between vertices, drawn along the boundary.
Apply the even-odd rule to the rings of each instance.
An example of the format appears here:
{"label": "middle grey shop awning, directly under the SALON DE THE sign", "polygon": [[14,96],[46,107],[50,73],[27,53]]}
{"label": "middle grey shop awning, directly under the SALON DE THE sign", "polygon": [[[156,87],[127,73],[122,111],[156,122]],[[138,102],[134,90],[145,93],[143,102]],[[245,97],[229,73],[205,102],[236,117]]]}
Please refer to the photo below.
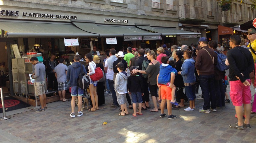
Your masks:
{"label": "middle grey shop awning, directly under the SALON DE THE sign", "polygon": [[100,25],[89,22],[72,21],[74,25],[84,31],[99,34],[100,37],[113,36],[155,36],[161,35],[159,33],[151,33],[135,26],[126,25]]}

